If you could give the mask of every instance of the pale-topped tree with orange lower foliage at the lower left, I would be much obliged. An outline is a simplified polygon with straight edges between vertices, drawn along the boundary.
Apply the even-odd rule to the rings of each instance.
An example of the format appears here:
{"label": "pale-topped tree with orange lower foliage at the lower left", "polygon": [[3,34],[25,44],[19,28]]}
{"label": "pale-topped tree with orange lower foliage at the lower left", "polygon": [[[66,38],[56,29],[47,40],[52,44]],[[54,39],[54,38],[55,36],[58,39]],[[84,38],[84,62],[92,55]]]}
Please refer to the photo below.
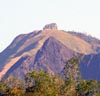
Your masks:
{"label": "pale-topped tree with orange lower foliage at the lower left", "polygon": [[7,96],[24,96],[25,86],[23,80],[19,80],[13,76],[9,76],[6,79],[6,83],[9,85],[10,89]]}

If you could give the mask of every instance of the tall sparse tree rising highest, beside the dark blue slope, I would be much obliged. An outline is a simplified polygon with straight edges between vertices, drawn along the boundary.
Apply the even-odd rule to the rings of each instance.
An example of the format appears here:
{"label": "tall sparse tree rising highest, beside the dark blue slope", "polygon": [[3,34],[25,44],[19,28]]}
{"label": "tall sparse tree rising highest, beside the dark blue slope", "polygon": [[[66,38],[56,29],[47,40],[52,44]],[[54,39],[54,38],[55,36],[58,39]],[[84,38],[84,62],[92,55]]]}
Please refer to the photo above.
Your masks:
{"label": "tall sparse tree rising highest, beside the dark blue slope", "polygon": [[79,60],[81,57],[73,57],[67,60],[63,73],[65,79],[72,79],[75,83],[81,79],[79,72]]}

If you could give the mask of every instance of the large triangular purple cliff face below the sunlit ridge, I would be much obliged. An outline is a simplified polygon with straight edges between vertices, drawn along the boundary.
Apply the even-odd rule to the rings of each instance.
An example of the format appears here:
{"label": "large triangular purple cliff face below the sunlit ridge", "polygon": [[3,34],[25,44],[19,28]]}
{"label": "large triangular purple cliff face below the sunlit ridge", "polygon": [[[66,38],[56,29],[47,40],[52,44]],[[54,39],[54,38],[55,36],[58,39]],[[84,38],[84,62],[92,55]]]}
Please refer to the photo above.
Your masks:
{"label": "large triangular purple cliff face below the sunlit ridge", "polygon": [[51,73],[60,73],[66,60],[75,55],[77,55],[76,52],[67,48],[53,37],[50,37],[37,52],[34,66],[36,69],[43,68]]}

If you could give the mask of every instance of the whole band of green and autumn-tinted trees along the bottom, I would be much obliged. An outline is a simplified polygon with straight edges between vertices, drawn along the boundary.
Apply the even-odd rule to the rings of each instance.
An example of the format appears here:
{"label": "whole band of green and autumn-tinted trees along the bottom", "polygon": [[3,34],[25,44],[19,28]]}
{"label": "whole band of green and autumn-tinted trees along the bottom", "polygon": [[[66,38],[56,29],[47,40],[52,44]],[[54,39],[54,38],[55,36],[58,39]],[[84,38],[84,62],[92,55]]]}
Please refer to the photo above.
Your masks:
{"label": "whole band of green and autumn-tinted trees along the bottom", "polygon": [[43,70],[27,73],[23,81],[9,76],[0,82],[0,96],[100,96],[98,81],[79,78],[78,61],[67,61],[65,78]]}

